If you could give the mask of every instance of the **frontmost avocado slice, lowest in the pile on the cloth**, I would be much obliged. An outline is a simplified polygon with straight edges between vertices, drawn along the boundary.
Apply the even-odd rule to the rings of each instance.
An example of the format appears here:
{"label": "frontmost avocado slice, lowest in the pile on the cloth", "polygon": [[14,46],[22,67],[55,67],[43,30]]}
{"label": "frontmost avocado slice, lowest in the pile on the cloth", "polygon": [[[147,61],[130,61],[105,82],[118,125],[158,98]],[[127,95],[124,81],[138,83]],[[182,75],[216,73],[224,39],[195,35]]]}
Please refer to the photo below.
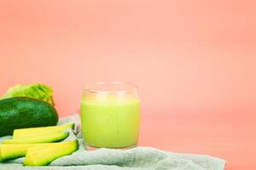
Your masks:
{"label": "frontmost avocado slice, lowest in the pile on the cloth", "polygon": [[24,161],[25,166],[44,166],[61,156],[71,155],[79,149],[79,141],[69,141],[53,146],[37,146],[29,148]]}

